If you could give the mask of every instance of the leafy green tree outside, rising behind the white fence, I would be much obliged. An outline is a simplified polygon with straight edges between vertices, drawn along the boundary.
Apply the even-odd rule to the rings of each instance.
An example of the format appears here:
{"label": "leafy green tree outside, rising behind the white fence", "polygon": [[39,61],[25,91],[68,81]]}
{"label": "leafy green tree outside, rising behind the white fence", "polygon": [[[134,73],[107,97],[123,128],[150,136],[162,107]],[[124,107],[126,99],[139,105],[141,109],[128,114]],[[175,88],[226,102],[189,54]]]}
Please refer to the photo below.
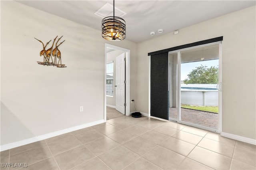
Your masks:
{"label": "leafy green tree outside, rising behind the white fence", "polygon": [[203,66],[202,64],[193,69],[188,78],[184,80],[185,84],[217,84],[218,83],[218,67]]}

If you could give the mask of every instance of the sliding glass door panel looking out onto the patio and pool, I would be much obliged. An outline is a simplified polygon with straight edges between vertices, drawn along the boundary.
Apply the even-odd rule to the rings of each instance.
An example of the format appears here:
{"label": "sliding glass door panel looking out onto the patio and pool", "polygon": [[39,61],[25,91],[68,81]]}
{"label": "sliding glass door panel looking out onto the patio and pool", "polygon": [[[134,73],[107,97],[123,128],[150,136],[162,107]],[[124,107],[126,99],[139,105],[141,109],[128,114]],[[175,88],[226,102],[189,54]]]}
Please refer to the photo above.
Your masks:
{"label": "sliding glass door panel looking out onto the patio and pool", "polygon": [[220,43],[169,53],[169,120],[220,131]]}

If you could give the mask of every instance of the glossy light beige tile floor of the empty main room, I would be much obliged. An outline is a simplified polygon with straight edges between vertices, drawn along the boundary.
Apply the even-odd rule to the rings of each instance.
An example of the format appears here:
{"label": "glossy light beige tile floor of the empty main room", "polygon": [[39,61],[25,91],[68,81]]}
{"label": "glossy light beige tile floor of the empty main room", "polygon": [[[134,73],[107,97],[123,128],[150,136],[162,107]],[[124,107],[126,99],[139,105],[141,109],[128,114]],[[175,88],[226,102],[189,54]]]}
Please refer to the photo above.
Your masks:
{"label": "glossy light beige tile floor of the empty main room", "polygon": [[256,169],[255,145],[147,117],[110,119],[0,154],[3,170]]}

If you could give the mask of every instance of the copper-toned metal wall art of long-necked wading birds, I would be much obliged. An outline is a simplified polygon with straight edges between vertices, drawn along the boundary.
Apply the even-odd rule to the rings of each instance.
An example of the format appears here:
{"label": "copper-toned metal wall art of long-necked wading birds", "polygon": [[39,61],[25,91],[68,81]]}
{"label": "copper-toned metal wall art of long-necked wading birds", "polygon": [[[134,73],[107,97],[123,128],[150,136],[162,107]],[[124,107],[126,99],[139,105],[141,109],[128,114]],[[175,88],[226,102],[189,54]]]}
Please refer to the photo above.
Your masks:
{"label": "copper-toned metal wall art of long-necked wading birds", "polygon": [[[56,38],[57,38],[58,36],[56,36]],[[49,49],[45,49],[46,48],[46,46],[52,41],[52,40],[50,40],[49,42],[47,42],[46,43],[46,45],[44,46],[44,43],[42,42],[42,41],[40,41],[40,40],[38,40],[38,39],[36,39],[36,38],[34,38],[34,39],[36,39],[36,40],[38,40],[40,43],[42,43],[43,44],[43,49],[42,49],[42,51],[40,51],[40,56],[44,56],[44,61],[43,62],[41,62],[41,61],[37,61],[37,63],[38,64],[40,64],[40,65],[52,65],[52,66],[56,66],[56,67],[67,67],[67,66],[65,66],[65,64],[62,64],[61,63],[61,53],[60,53],[60,50],[58,49],[58,47],[65,41],[63,41],[63,42],[61,42],[59,45],[58,45],[58,42],[60,41],[60,39],[62,38],[63,36],[61,36],[58,40],[57,40],[57,42],[56,42],[56,44],[55,44],[55,48],[54,49],[52,49],[53,48],[53,46],[54,46],[54,42],[56,41],[56,38],[53,40],[53,43],[52,43],[52,46],[49,48]],[[52,57],[54,57],[54,60],[52,59]],[[58,58],[58,63],[57,63],[57,58]],[[51,62],[50,62],[50,59],[52,60]]]}

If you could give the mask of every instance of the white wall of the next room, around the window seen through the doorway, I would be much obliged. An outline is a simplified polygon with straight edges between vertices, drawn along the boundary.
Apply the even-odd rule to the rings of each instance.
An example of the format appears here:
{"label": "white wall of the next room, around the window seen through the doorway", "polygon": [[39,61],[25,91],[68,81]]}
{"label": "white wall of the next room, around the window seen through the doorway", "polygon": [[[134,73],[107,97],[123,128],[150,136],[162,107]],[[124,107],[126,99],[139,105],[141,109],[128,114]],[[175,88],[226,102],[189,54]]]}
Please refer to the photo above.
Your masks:
{"label": "white wall of the next room, around the window seen through the doorway", "polygon": [[[116,85],[116,57],[124,51],[114,50],[107,53],[107,62],[113,61],[113,85]],[[107,96],[107,105],[116,106],[116,88],[114,87],[113,97]]]}

